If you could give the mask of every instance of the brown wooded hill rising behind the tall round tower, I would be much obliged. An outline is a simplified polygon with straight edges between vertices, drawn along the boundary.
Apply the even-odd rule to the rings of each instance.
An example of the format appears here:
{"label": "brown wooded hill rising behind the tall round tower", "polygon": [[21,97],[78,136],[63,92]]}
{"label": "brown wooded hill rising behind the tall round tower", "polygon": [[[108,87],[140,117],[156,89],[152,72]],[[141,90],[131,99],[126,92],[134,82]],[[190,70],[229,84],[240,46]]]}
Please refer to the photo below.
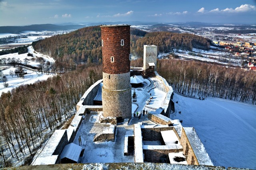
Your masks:
{"label": "brown wooded hill rising behind the tall round tower", "polygon": [[[158,46],[158,53],[176,49],[208,49],[210,40],[188,33],[153,32],[130,29],[131,54],[143,57],[143,45]],[[84,27],[68,34],[55,35],[32,43],[34,49],[60,62],[102,63],[100,26]]]}

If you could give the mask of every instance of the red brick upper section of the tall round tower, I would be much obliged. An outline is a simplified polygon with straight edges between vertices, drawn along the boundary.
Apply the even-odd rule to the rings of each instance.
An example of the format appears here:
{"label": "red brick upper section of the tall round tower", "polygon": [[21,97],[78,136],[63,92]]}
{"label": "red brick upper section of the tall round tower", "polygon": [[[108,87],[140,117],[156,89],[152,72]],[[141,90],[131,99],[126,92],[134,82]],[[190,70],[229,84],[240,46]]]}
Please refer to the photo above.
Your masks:
{"label": "red brick upper section of the tall round tower", "polygon": [[103,72],[130,72],[130,25],[103,25],[101,38]]}

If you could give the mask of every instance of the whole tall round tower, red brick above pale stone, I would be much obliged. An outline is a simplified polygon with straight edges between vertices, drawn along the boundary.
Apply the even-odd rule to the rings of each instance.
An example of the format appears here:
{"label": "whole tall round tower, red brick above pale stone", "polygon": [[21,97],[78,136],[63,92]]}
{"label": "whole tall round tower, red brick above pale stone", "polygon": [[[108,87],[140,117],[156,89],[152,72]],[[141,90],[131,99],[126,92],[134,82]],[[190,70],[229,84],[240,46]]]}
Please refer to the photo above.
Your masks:
{"label": "whole tall round tower, red brick above pale stone", "polygon": [[103,116],[130,118],[130,25],[102,25]]}

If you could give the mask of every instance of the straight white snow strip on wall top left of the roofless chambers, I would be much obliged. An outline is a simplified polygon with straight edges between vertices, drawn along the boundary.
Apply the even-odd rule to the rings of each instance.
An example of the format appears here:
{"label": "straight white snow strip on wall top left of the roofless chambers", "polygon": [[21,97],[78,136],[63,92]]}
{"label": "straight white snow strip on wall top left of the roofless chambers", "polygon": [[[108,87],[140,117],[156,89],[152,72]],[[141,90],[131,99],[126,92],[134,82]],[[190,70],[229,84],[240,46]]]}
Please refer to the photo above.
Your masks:
{"label": "straight white snow strip on wall top left of the roofless chambers", "polygon": [[144,162],[140,124],[134,124],[134,162]]}

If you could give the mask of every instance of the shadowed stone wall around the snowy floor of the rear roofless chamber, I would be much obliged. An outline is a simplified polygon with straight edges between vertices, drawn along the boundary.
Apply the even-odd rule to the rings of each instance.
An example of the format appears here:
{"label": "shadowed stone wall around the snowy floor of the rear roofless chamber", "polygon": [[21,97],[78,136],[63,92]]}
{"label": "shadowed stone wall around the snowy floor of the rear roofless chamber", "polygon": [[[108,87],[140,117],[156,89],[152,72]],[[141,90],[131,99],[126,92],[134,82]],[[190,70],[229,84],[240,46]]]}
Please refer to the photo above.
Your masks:
{"label": "shadowed stone wall around the snowy floor of the rear roofless chamber", "polygon": [[168,131],[172,129],[173,127],[141,128],[143,141],[161,141],[164,143],[161,131]]}

